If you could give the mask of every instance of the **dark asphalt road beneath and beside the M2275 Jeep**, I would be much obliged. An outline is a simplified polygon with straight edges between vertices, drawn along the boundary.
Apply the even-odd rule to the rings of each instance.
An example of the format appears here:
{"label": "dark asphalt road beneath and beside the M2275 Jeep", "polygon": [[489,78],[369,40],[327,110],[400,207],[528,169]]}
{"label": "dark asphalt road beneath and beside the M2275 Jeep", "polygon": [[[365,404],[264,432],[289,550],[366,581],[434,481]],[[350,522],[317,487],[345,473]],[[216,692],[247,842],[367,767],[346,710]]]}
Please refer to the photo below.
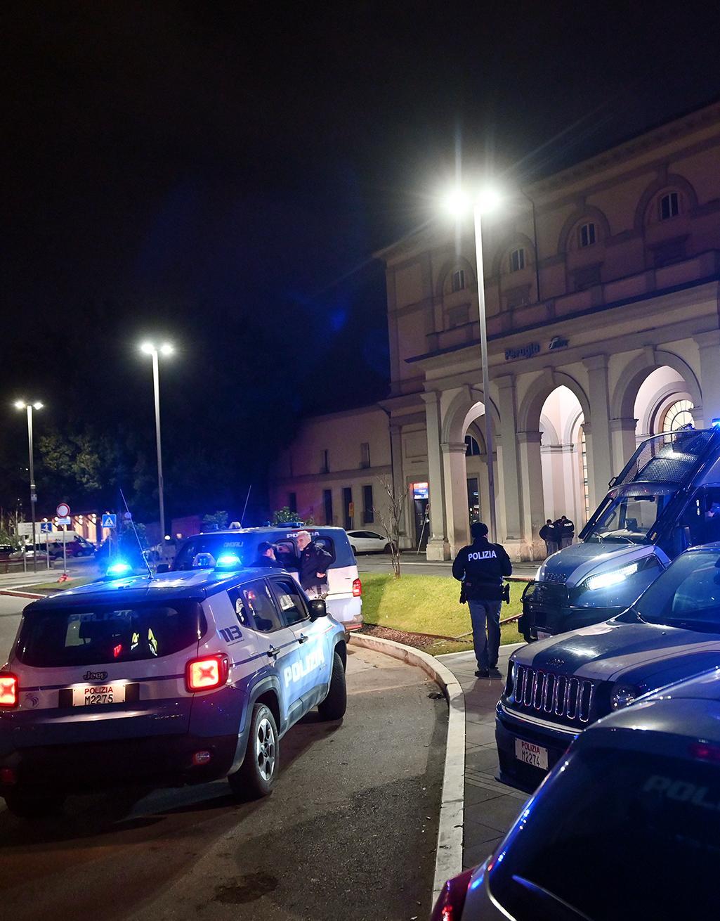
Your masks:
{"label": "dark asphalt road beneath and beside the M2275 Jeep", "polygon": [[[13,602],[0,596],[4,648]],[[352,644],[348,687],[342,724],[309,714],[285,736],[261,802],[218,782],[129,811],[118,796],[71,798],[63,819],[34,825],[0,806],[0,917],[427,917],[447,705],[420,670]]]}

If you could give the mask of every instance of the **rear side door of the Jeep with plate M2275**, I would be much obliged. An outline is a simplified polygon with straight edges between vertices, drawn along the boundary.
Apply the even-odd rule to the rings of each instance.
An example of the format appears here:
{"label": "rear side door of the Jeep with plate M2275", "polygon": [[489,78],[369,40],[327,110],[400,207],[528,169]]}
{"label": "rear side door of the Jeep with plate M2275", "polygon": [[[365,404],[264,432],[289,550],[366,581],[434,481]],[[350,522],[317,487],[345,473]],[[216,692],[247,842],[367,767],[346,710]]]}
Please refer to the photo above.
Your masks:
{"label": "rear side door of the Jeep with plate M2275", "polygon": [[[255,636],[258,670],[273,673],[280,684],[280,712],[285,728],[295,722],[296,700],[286,692],[284,675],[296,660],[297,639],[285,624],[267,579],[245,582],[227,592],[238,620],[247,621]],[[284,729],[281,728],[281,731]]]}

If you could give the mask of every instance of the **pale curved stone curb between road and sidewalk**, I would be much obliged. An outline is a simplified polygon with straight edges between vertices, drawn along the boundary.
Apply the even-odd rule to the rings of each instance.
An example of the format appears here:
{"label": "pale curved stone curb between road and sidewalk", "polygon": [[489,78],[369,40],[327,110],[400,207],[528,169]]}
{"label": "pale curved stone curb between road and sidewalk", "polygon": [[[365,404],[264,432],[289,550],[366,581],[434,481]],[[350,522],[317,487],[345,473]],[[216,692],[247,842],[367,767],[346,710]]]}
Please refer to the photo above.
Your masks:
{"label": "pale curved stone curb between road and sidewalk", "polygon": [[443,689],[447,699],[447,742],[445,771],[437,828],[433,904],[446,880],[462,870],[462,823],[465,808],[465,695],[455,675],[433,656],[379,636],[354,634],[357,645],[416,665]]}

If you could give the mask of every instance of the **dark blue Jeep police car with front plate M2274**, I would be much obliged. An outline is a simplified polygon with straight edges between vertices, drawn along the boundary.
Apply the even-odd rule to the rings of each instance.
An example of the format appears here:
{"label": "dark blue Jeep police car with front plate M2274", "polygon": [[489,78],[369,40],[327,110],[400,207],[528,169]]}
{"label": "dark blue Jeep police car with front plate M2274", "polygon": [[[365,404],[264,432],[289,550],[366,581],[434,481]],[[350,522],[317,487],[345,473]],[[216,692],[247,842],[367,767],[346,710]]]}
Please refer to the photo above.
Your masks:
{"label": "dark blue Jeep police car with front plate M2274", "polygon": [[634,604],[517,649],[497,705],[500,779],[532,791],[600,717],[720,663],[720,542],[680,554]]}

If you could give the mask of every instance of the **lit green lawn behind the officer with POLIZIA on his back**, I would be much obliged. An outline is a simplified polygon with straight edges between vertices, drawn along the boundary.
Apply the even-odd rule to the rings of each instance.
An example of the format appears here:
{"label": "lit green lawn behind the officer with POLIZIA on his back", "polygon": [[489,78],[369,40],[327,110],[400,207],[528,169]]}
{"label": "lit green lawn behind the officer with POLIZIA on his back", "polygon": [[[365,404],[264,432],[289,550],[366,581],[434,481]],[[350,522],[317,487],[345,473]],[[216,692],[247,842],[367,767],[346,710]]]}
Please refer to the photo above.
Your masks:
{"label": "lit green lawn behind the officer with POLIZIA on his back", "polygon": [[[363,577],[363,617],[366,624],[377,624],[409,633],[460,636],[470,631],[470,611],[459,604],[459,582],[447,576],[366,573]],[[522,610],[520,596],[525,583],[510,583],[510,603],[504,604],[501,620]],[[471,637],[459,641],[438,640],[427,651],[433,655],[459,652],[471,647]],[[505,624],[501,643],[518,643],[522,637],[517,624]]]}

